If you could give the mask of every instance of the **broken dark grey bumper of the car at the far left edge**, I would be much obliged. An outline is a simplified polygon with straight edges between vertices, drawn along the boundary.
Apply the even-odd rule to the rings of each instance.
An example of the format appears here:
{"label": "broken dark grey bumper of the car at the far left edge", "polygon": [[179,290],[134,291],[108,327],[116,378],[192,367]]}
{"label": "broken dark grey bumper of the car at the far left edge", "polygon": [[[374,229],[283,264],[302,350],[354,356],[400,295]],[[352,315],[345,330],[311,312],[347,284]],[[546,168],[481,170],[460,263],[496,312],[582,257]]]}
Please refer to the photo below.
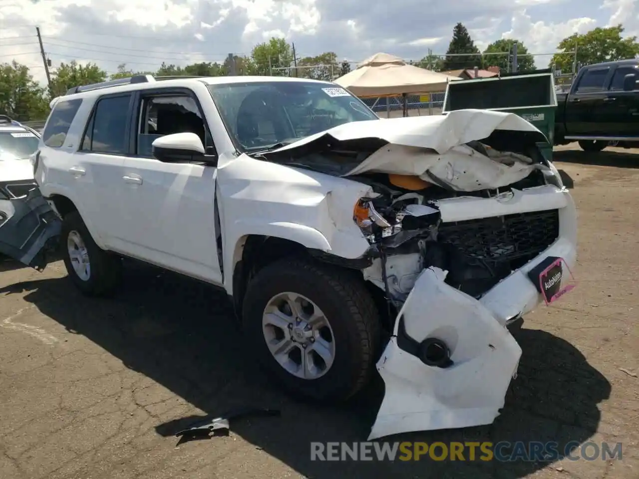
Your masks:
{"label": "broken dark grey bumper of the car at the far left edge", "polygon": [[47,253],[58,245],[61,226],[38,188],[26,197],[0,198],[0,254],[42,271]]}

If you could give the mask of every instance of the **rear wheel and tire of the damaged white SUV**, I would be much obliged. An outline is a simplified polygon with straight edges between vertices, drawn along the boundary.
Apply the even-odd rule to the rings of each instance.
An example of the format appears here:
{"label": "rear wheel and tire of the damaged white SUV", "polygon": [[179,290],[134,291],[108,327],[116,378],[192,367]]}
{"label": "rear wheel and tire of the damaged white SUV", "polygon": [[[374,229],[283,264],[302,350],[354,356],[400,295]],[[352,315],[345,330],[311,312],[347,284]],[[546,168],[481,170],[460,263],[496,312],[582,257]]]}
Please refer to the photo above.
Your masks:
{"label": "rear wheel and tire of the damaged white SUV", "polygon": [[60,238],[66,272],[86,296],[109,296],[121,280],[122,260],[96,245],[78,211],[65,216]]}

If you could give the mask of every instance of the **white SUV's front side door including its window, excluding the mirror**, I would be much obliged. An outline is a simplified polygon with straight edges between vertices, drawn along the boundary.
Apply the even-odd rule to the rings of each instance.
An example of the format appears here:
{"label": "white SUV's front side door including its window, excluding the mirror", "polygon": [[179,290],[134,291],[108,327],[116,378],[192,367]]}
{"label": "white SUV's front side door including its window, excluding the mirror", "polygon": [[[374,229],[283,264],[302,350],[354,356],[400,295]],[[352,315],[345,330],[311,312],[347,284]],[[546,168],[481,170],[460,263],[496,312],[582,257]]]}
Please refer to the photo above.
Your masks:
{"label": "white SUV's front side door including its window, excluding the mirror", "polygon": [[222,284],[215,217],[217,168],[164,163],[151,143],[171,133],[196,133],[215,154],[203,110],[185,88],[139,91],[134,98],[130,152],[121,201],[130,255],[213,284]]}

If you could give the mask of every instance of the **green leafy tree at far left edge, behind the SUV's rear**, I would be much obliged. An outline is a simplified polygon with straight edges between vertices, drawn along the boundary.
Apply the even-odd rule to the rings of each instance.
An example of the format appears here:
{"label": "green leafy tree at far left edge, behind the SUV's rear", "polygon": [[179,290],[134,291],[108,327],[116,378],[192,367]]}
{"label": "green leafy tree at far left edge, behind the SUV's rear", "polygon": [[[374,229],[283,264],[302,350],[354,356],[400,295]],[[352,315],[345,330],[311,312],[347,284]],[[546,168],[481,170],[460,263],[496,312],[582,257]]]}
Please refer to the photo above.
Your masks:
{"label": "green leafy tree at far left edge, behind the SUV's rear", "polygon": [[0,113],[18,121],[47,118],[45,89],[16,61],[0,65]]}

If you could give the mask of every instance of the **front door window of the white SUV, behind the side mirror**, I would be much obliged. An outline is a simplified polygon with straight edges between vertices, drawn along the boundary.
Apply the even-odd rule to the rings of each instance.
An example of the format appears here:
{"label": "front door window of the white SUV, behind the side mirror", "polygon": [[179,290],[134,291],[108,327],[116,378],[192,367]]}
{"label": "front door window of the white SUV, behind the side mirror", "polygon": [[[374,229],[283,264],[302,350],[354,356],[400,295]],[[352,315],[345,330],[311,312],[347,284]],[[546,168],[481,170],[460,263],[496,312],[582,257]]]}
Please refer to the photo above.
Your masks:
{"label": "front door window of the white SUV, behind the side mirror", "polygon": [[189,95],[158,95],[142,98],[137,127],[137,155],[151,158],[153,141],[173,133],[196,133],[204,147],[213,139],[196,101]]}

